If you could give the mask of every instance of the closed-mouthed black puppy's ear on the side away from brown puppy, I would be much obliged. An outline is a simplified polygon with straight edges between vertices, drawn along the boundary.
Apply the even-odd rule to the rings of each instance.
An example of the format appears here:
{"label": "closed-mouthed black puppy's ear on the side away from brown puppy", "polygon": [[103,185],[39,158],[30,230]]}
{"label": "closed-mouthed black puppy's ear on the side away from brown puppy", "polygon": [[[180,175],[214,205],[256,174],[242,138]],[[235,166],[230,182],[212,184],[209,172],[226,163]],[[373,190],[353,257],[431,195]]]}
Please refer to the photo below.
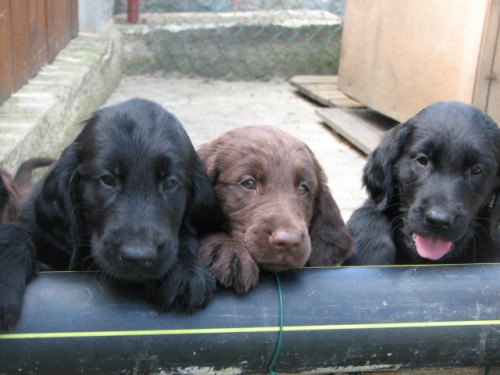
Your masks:
{"label": "closed-mouthed black puppy's ear on the side away from brown puppy", "polygon": [[[33,195],[37,237],[40,243],[50,247],[39,249],[41,252],[63,251],[70,259],[74,257],[72,250],[80,242],[79,208],[75,199],[79,165],[76,143],[73,143],[47,172]],[[71,260],[62,258],[61,254],[61,267],[68,267],[67,262]],[[55,265],[54,259],[51,263]]]}

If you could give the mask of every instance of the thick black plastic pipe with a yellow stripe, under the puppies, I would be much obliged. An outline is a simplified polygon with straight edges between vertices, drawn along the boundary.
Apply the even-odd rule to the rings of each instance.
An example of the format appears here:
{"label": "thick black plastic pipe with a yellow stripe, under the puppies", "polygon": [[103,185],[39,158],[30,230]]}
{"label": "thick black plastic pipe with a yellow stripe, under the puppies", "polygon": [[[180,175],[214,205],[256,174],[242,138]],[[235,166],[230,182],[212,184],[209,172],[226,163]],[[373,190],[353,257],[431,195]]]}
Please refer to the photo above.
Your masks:
{"label": "thick black plastic pipe with a yellow stripe, under the puppies", "polygon": [[282,308],[267,275],[182,316],[100,273],[42,273],[0,335],[0,373],[263,374],[275,354],[276,373],[500,364],[500,265],[299,269],[279,284]]}

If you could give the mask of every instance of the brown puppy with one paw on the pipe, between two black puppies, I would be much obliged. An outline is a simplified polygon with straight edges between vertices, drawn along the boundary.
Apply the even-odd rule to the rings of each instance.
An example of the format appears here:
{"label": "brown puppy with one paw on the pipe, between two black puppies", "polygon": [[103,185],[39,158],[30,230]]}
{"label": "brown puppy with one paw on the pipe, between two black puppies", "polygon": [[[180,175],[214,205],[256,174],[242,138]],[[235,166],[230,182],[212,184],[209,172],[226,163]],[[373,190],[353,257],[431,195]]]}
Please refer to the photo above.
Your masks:
{"label": "brown puppy with one paw on the pipe, between two black puppies", "polygon": [[244,293],[260,269],[340,264],[351,238],[313,152],[271,126],[229,131],[198,149],[229,223],[200,240],[224,286]]}

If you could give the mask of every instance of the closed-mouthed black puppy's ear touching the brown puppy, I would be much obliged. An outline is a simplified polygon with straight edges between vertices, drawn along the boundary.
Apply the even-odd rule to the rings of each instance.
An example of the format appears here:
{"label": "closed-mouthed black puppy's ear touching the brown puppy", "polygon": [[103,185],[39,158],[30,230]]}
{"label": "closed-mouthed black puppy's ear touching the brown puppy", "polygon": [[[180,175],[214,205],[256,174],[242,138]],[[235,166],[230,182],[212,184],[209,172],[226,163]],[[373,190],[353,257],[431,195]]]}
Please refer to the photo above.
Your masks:
{"label": "closed-mouthed black puppy's ear touching the brown puppy", "polygon": [[221,230],[225,222],[224,214],[207,172],[198,154],[193,156],[193,197],[189,214],[198,232]]}

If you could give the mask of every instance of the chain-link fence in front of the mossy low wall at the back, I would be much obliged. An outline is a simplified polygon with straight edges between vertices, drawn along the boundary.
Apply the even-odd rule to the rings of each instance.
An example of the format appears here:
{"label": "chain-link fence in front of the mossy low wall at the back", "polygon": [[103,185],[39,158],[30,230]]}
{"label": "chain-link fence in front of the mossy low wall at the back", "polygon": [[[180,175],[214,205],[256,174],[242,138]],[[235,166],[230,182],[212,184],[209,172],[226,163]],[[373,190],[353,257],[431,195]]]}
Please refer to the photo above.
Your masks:
{"label": "chain-link fence in front of the mossy low wall at the back", "polygon": [[123,27],[126,74],[151,71],[229,80],[336,74],[345,0],[140,2]]}

